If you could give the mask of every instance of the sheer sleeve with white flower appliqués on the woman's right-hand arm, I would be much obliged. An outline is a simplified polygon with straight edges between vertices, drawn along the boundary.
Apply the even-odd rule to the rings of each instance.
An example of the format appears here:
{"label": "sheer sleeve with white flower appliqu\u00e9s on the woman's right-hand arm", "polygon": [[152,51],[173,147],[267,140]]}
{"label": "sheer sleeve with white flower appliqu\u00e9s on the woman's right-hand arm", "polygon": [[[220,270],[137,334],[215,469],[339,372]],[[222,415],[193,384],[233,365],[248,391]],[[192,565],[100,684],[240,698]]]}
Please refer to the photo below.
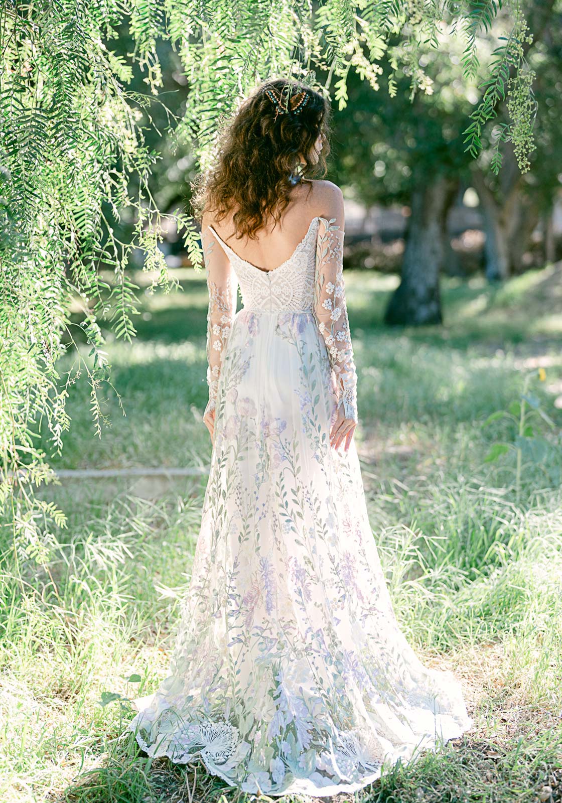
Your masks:
{"label": "sheer sleeve with white flower appliqu\u00e9s on the woman's right-hand arm", "polygon": [[336,218],[320,218],[316,240],[316,280],[314,315],[328,349],[330,365],[336,373],[338,408],[343,404],[345,418],[357,421],[357,376],[353,361],[348,310],[345,304],[343,246],[344,230]]}

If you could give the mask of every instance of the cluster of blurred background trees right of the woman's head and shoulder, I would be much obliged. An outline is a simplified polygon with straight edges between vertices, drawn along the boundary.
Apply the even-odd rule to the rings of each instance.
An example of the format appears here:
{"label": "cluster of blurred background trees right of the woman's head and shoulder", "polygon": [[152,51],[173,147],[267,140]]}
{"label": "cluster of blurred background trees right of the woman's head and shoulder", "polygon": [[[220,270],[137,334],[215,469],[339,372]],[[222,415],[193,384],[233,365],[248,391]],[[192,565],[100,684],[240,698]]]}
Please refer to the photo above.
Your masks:
{"label": "cluster of blurred background trees right of the woman's head and shoulder", "polygon": [[[394,207],[403,218],[403,226],[396,218],[392,224],[397,241],[403,243],[399,260],[389,265],[376,247],[381,238],[388,242],[392,236],[382,215],[378,228],[369,230],[375,247],[352,262],[366,260],[372,267],[400,271],[401,283],[385,311],[387,324],[441,322],[443,271],[469,275],[478,269],[494,282],[560,256],[562,230],[556,224],[562,170],[557,136],[562,119],[562,50],[556,37],[562,23],[560,6],[537,3],[529,18],[534,40],[526,47],[526,57],[536,75],[532,87],[540,112],[536,149],[526,172],[519,168],[514,145],[498,142],[507,124],[505,104],[498,106],[498,119],[487,132],[478,159],[466,153],[462,132],[480,100],[477,88],[483,67],[474,84],[463,81],[462,51],[454,47],[454,40],[447,49],[428,49],[422,55],[434,91],[417,94],[413,103],[404,79],[393,98],[388,92],[374,95],[356,79],[351,82],[349,106],[336,122],[336,181],[347,186],[365,210]],[[388,78],[389,71],[382,83]],[[491,162],[497,153],[502,168],[496,174]],[[457,243],[457,251],[452,247],[463,233],[471,234],[467,240],[476,244],[470,248],[471,259],[463,253],[462,243]]]}

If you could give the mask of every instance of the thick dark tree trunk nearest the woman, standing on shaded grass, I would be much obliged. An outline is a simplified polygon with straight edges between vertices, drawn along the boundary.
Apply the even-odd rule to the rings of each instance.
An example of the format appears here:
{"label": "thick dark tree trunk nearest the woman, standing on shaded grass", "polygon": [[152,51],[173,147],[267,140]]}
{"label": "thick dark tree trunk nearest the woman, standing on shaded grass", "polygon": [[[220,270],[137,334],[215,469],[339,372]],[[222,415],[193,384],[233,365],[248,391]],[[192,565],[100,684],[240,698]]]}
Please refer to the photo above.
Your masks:
{"label": "thick dark tree trunk nearest the woman, standing on shaded grass", "polygon": [[385,312],[385,324],[441,324],[439,273],[446,257],[446,222],[458,181],[420,173],[412,191],[402,277]]}

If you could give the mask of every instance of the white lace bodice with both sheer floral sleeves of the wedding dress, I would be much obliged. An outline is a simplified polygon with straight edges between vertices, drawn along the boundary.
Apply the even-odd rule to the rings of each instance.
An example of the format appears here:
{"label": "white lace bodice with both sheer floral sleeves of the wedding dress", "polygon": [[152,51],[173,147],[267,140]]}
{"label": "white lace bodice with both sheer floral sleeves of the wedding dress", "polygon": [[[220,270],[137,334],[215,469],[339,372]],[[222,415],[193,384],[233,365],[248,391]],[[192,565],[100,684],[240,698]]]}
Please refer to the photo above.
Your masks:
{"label": "white lace bodice with both sheer floral sleeves of the wedding dress", "polygon": [[[334,219],[312,218],[307,233],[291,256],[265,271],[238,256],[212,226],[202,232],[209,289],[207,314],[207,382],[214,410],[218,377],[230,328],[236,314],[238,286],[244,309],[255,312],[309,312],[314,315],[336,373],[338,407],[357,420],[356,369],[345,303],[343,277],[344,230]],[[220,247],[215,248],[219,243]]]}

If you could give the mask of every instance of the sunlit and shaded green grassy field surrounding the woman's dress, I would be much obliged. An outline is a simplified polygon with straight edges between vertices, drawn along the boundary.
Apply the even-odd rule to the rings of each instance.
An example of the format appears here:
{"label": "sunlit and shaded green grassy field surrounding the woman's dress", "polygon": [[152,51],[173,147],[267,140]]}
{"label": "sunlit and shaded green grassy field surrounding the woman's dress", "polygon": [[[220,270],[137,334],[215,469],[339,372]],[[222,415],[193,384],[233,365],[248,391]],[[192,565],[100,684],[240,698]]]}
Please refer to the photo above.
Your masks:
{"label": "sunlit and shaded green grassy field surrounding the woman's dress", "polygon": [[[167,669],[210,458],[205,282],[201,273],[177,275],[181,292],[142,294],[133,344],[108,343],[126,415],[116,391],[102,388],[110,426],[97,438],[81,377],[71,387],[63,454],[52,463],[203,473],[168,483],[64,479],[39,491],[68,517],[47,535],[44,565],[16,567],[6,536],[6,803],[245,799],[201,766],[151,763],[131,735],[120,738],[132,716],[128,698],[151,693]],[[475,727],[340,801],[561,801],[562,271],[531,271],[495,288],[446,280],[445,324],[419,330],[381,325],[395,281],[346,272],[356,444],[397,617],[424,662],[462,680]],[[61,373],[74,359],[61,361]],[[487,422],[501,410],[511,418]],[[522,412],[530,416],[523,423]],[[494,450],[502,453],[487,461]],[[121,699],[102,706],[104,693]]]}

